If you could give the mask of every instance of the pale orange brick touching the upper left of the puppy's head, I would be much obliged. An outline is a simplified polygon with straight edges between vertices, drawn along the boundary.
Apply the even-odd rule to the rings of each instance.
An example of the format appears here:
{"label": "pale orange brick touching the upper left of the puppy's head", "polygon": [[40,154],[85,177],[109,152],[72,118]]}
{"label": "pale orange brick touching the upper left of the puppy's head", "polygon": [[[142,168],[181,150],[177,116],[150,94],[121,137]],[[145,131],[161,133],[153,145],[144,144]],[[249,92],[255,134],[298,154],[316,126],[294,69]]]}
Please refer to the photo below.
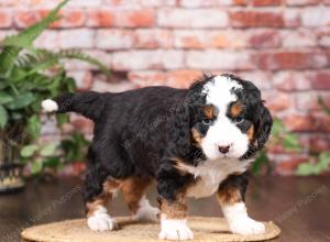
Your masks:
{"label": "pale orange brick touching the upper left of the puppy's head", "polygon": [[166,85],[176,88],[188,88],[202,76],[199,70],[173,70],[166,74]]}

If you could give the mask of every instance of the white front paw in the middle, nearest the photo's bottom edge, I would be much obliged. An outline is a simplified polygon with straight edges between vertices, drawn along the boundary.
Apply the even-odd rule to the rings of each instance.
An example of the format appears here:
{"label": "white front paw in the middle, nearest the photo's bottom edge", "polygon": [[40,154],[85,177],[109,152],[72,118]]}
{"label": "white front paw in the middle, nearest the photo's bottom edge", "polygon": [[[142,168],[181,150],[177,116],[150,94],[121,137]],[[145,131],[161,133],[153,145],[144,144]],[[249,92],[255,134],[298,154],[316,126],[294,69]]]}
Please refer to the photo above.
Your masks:
{"label": "white front paw in the middle, nearest the photo's bottom edge", "polygon": [[193,240],[194,234],[185,220],[165,220],[162,221],[160,239],[175,241]]}

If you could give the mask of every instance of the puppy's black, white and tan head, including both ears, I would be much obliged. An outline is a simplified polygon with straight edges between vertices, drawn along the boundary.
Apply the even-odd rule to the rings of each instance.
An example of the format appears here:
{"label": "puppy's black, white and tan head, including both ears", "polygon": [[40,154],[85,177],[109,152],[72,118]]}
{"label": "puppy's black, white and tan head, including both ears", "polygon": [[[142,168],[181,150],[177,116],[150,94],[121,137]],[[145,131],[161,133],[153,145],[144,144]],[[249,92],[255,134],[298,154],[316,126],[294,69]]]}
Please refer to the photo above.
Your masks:
{"label": "puppy's black, white and tan head, including both ears", "polygon": [[271,133],[273,120],[260,90],[233,75],[194,84],[184,107],[176,116],[176,141],[194,144],[208,160],[249,158]]}

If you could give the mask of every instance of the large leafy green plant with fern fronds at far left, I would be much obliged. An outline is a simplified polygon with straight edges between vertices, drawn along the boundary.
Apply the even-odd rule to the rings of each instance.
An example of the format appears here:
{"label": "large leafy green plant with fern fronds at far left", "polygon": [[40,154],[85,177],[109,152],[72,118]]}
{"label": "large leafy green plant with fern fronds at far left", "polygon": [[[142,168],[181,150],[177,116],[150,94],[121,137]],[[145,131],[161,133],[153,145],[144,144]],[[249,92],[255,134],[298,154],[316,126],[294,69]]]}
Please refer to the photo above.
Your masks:
{"label": "large leafy green plant with fern fronds at far left", "polygon": [[[62,92],[76,91],[73,78],[68,77],[63,59],[74,58],[98,66],[109,75],[97,59],[76,50],[51,52],[34,47],[36,37],[54,21],[58,20],[59,10],[68,0],[59,3],[38,23],[16,35],[6,37],[0,53],[0,138],[7,144],[21,150],[21,157],[31,163],[32,172],[40,173],[44,167],[59,164],[61,153],[68,153],[63,143],[75,147],[69,160],[77,158],[78,147],[86,144],[77,134],[62,144],[41,144],[41,101]],[[56,116],[61,127],[67,122],[67,116]],[[75,146],[76,145],[76,146]]]}

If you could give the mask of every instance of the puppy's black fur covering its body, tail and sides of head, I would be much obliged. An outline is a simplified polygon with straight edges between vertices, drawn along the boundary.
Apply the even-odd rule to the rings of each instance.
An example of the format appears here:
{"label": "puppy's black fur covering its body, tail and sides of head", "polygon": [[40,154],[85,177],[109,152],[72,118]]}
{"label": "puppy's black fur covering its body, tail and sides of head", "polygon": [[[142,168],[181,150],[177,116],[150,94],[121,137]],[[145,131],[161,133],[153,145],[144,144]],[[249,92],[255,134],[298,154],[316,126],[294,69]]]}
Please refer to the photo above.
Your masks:
{"label": "puppy's black fur covering its body, tail and sides of head", "polygon": [[[246,132],[254,125],[257,131],[249,151],[241,157],[244,160],[265,144],[272,117],[263,106],[260,90],[252,82],[232,75],[229,77],[243,86],[235,95],[244,105],[246,121],[238,127]],[[160,197],[175,199],[194,177],[179,173],[174,160],[195,166],[206,160],[201,148],[193,141],[191,128],[204,118],[201,108],[206,106],[206,95],[202,88],[212,79],[213,76],[206,75],[188,89],[147,87],[121,94],[89,91],[55,98],[58,112],[75,111],[95,122],[94,141],[88,153],[85,201],[90,201],[102,191],[107,177],[124,179],[130,176],[155,178]],[[201,133],[207,132],[206,128],[197,128]],[[242,179],[245,180],[245,175],[233,180]],[[245,190],[245,182],[231,183]]]}

